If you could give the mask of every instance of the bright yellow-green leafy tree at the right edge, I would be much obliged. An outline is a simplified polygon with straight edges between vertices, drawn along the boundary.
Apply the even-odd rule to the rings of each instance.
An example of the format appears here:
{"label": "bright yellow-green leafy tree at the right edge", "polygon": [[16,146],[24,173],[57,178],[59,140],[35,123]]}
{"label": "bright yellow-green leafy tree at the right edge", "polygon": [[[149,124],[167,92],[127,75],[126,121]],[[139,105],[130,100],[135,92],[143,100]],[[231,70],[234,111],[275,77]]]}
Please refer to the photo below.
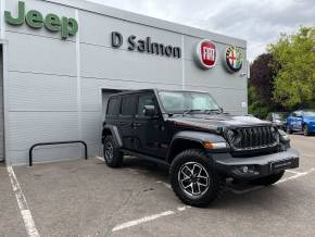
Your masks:
{"label": "bright yellow-green leafy tree at the right edge", "polygon": [[273,98],[287,109],[315,104],[315,26],[281,34],[268,47],[276,72]]}

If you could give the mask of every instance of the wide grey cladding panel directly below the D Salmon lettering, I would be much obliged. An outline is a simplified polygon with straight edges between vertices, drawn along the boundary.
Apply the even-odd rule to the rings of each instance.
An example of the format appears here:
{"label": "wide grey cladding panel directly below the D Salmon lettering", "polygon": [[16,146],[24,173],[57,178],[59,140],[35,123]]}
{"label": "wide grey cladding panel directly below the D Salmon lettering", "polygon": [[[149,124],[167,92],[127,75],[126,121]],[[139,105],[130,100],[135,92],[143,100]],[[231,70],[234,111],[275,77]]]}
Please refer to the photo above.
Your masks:
{"label": "wide grey cladding panel directly below the D Salmon lettering", "polygon": [[181,60],[80,45],[81,76],[181,84]]}

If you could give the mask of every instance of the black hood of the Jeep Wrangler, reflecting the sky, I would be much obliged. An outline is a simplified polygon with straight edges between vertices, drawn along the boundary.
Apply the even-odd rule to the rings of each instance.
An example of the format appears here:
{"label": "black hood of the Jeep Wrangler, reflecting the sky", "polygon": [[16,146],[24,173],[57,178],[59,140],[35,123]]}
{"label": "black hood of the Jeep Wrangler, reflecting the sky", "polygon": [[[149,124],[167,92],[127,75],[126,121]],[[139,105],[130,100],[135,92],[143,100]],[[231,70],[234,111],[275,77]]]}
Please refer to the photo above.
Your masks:
{"label": "black hood of the Jeep Wrangler, reflecting the sky", "polygon": [[254,116],[236,116],[230,114],[187,114],[166,118],[175,125],[192,126],[217,130],[223,127],[251,127],[272,125]]}

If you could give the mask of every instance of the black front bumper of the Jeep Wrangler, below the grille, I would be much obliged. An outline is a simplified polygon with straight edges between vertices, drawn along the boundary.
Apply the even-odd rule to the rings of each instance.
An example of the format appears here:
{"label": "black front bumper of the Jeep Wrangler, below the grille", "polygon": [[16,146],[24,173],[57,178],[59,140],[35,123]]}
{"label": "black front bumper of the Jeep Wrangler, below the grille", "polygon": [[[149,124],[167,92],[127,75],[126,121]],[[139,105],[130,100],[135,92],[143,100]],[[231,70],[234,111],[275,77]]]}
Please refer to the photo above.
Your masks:
{"label": "black front bumper of the Jeep Wrangler, below the grille", "polygon": [[240,179],[253,179],[299,167],[299,153],[287,151],[252,158],[234,158],[229,153],[213,153],[214,166],[220,173]]}

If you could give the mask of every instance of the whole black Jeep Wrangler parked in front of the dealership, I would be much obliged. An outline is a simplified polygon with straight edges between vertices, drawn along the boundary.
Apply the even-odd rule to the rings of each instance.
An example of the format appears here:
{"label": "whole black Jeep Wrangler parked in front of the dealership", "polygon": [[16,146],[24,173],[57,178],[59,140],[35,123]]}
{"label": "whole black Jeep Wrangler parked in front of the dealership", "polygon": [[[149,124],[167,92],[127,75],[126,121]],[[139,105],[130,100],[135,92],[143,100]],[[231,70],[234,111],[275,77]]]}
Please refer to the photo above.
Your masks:
{"label": "whole black Jeep Wrangler parked in front of the dealership", "polygon": [[272,185],[299,166],[285,132],[254,116],[225,113],[206,92],[115,93],[102,141],[110,167],[122,166],[124,154],[167,165],[174,192],[197,207],[216,200],[227,178]]}

